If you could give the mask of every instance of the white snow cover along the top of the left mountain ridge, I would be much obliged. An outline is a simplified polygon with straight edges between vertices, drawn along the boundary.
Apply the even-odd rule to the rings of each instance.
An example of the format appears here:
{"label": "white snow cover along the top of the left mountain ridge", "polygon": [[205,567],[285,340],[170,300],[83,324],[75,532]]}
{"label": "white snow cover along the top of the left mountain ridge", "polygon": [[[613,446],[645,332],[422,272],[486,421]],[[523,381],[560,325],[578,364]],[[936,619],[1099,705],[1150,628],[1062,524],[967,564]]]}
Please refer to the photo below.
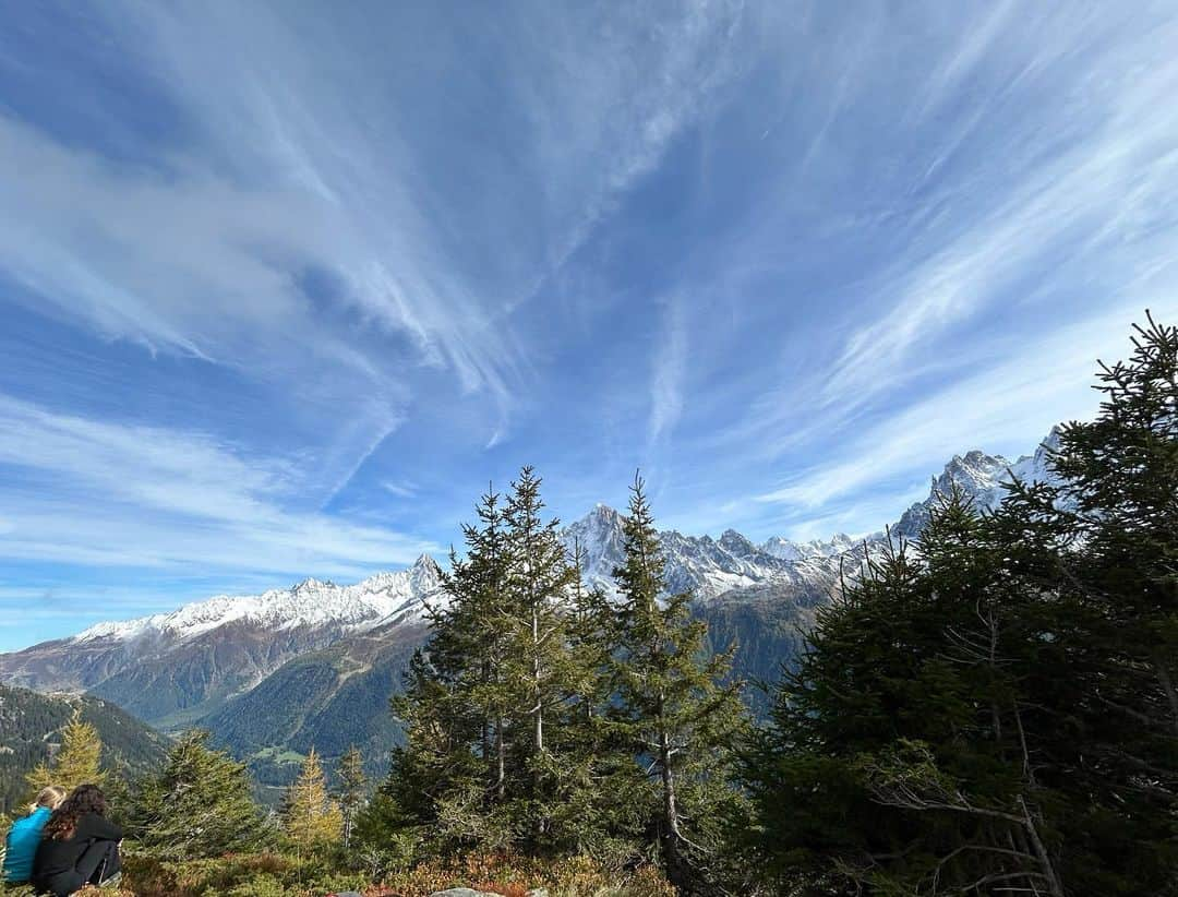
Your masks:
{"label": "white snow cover along the top of the left mountain ridge", "polygon": [[285,589],[260,595],[218,595],[185,605],[171,613],[123,622],[100,622],[70,641],[131,641],[150,635],[183,642],[231,622],[270,631],[336,625],[357,632],[421,608],[421,601],[438,591],[437,565],[422,555],[406,570],[378,573],[352,586],[306,579]]}

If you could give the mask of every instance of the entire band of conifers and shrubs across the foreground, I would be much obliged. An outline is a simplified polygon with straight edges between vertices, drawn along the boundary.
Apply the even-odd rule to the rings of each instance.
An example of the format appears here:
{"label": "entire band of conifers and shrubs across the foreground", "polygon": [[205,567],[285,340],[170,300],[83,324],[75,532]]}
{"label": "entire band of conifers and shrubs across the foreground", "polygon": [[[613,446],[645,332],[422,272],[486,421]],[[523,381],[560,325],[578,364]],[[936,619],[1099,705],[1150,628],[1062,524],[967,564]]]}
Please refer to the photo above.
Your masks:
{"label": "entire band of conifers and shrubs across the foreground", "polygon": [[102,778],[144,895],[1178,895],[1178,328],[1133,345],[1052,484],[940,495],[756,700],[641,476],[605,593],[525,467],[451,553],[383,780],[311,751],[267,812],[206,733],[100,769],[75,718],[28,790]]}

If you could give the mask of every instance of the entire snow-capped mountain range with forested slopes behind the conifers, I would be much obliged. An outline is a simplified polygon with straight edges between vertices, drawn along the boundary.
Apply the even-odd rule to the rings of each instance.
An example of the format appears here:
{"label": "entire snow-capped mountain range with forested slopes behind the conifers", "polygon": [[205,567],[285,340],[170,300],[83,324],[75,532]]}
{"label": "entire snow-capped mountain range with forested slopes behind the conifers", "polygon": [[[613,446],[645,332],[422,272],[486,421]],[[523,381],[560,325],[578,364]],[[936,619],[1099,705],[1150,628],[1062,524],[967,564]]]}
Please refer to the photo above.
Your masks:
{"label": "entire snow-capped mountain range with forested slopes behind the conifers", "polygon": [[[690,591],[714,649],[735,644],[735,673],[772,681],[796,657],[815,609],[833,600],[840,578],[854,575],[888,537],[920,533],[939,493],[952,484],[979,507],[994,507],[1011,474],[1047,480],[1051,435],[1030,456],[1008,461],[982,451],[953,457],[928,499],[887,530],[853,540],[755,545],[728,530],[719,539],[661,534],[669,587]],[[622,558],[622,517],[598,504],[564,529],[582,553],[587,580],[607,592]],[[329,760],[356,744],[380,774],[398,738],[388,700],[401,685],[443,602],[434,559],[379,573],[351,586],[307,579],[253,596],[218,596],[72,638],[0,654],[0,681],[40,692],[88,693],[145,723],[177,731],[209,728],[249,759],[258,780],[287,783],[312,745]],[[749,700],[761,706],[756,688]]]}

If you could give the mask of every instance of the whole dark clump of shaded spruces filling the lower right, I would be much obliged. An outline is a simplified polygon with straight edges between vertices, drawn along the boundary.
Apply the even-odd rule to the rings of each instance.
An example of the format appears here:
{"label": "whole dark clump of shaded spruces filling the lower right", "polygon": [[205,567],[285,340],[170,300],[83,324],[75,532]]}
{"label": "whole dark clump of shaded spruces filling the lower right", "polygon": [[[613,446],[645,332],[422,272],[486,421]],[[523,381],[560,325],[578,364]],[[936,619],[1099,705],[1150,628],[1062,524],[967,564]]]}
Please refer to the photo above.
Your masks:
{"label": "whole dark clump of shaded spruces filling the lower right", "polygon": [[776,888],[1174,893],[1176,356],[1151,319],[1058,483],[941,496],[820,613],[746,757]]}

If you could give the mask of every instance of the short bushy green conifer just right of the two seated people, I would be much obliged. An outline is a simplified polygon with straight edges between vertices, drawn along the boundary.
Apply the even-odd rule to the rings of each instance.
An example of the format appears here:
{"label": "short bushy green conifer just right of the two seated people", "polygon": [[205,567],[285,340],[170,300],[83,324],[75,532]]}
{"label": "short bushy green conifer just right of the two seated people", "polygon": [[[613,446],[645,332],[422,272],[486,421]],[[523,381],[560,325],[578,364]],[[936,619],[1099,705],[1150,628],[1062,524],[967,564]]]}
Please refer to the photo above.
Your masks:
{"label": "short bushy green conifer just right of the two seated people", "polygon": [[127,831],[154,857],[217,857],[269,839],[245,764],[209,747],[209,738],[200,730],[180,736],[164,770],[139,786]]}

